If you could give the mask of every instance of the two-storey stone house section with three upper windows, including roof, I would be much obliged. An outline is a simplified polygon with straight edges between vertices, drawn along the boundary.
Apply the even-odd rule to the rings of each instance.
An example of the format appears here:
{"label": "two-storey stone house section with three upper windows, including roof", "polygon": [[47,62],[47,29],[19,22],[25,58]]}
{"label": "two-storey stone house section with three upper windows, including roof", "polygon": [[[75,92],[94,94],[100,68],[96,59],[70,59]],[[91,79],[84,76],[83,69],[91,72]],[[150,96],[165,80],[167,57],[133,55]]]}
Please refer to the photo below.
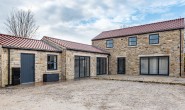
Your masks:
{"label": "two-storey stone house section with three upper windows, including roof", "polygon": [[104,31],[92,45],[110,53],[109,74],[184,75],[184,18]]}

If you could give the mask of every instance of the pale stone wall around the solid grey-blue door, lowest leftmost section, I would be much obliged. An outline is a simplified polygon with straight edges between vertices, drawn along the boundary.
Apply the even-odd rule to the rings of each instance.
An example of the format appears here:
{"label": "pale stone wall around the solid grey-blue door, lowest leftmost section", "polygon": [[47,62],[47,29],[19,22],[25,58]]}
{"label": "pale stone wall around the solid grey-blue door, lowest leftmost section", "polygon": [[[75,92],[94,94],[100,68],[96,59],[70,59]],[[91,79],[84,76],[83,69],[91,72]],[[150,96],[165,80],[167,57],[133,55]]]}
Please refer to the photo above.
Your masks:
{"label": "pale stone wall around the solid grey-blue door, lowest leftmost section", "polygon": [[[35,54],[35,82],[43,81],[43,74],[45,73],[59,73],[60,78],[63,76],[61,67],[61,53],[55,52],[43,52],[43,51],[29,51],[29,50],[10,50],[10,73],[12,73],[13,67],[21,66],[21,53]],[[47,55],[58,55],[57,56],[57,70],[47,70]],[[8,49],[2,49],[2,86],[8,84]]]}

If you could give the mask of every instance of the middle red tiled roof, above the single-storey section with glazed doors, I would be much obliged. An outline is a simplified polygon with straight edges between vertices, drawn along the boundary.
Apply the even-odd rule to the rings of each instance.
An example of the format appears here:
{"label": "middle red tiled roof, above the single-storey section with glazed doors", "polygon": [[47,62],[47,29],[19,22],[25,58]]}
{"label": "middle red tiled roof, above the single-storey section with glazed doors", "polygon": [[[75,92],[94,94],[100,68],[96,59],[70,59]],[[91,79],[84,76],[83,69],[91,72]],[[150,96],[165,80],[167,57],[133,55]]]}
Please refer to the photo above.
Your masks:
{"label": "middle red tiled roof, above the single-storey section with glazed doors", "polygon": [[109,54],[108,52],[99,49],[95,46],[92,45],[87,45],[87,44],[82,44],[82,43],[77,43],[77,42],[72,42],[72,41],[66,41],[66,40],[61,40],[57,38],[51,38],[44,36],[42,40],[48,40],[50,42],[53,42],[55,44],[58,44],[61,47],[65,47],[68,50],[77,50],[77,51],[84,51],[84,52],[92,52],[92,53],[103,53],[103,54]]}

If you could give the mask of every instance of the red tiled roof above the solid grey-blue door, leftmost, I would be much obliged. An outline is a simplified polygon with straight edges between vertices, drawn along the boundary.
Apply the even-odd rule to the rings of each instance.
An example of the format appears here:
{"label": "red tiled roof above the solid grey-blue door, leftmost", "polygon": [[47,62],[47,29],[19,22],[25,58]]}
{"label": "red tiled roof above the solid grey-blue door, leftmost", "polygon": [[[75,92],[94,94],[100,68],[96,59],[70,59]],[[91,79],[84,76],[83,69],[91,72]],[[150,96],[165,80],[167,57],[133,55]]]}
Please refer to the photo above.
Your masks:
{"label": "red tiled roof above the solid grey-blue door, leftmost", "polygon": [[15,37],[11,35],[0,34],[0,45],[6,48],[28,49],[28,50],[42,50],[42,51],[56,51],[59,50],[51,47],[42,40],[35,40],[23,37]]}

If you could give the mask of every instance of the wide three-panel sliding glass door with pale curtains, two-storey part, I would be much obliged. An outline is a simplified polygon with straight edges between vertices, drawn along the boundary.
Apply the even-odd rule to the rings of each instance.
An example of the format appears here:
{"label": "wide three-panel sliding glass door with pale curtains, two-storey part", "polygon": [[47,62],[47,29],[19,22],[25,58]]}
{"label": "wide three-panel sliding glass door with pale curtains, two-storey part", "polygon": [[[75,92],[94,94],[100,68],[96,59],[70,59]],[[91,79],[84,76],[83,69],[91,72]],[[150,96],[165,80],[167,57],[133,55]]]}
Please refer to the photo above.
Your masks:
{"label": "wide three-panel sliding glass door with pale curtains, two-storey part", "polygon": [[141,57],[140,74],[143,75],[168,75],[169,57]]}

